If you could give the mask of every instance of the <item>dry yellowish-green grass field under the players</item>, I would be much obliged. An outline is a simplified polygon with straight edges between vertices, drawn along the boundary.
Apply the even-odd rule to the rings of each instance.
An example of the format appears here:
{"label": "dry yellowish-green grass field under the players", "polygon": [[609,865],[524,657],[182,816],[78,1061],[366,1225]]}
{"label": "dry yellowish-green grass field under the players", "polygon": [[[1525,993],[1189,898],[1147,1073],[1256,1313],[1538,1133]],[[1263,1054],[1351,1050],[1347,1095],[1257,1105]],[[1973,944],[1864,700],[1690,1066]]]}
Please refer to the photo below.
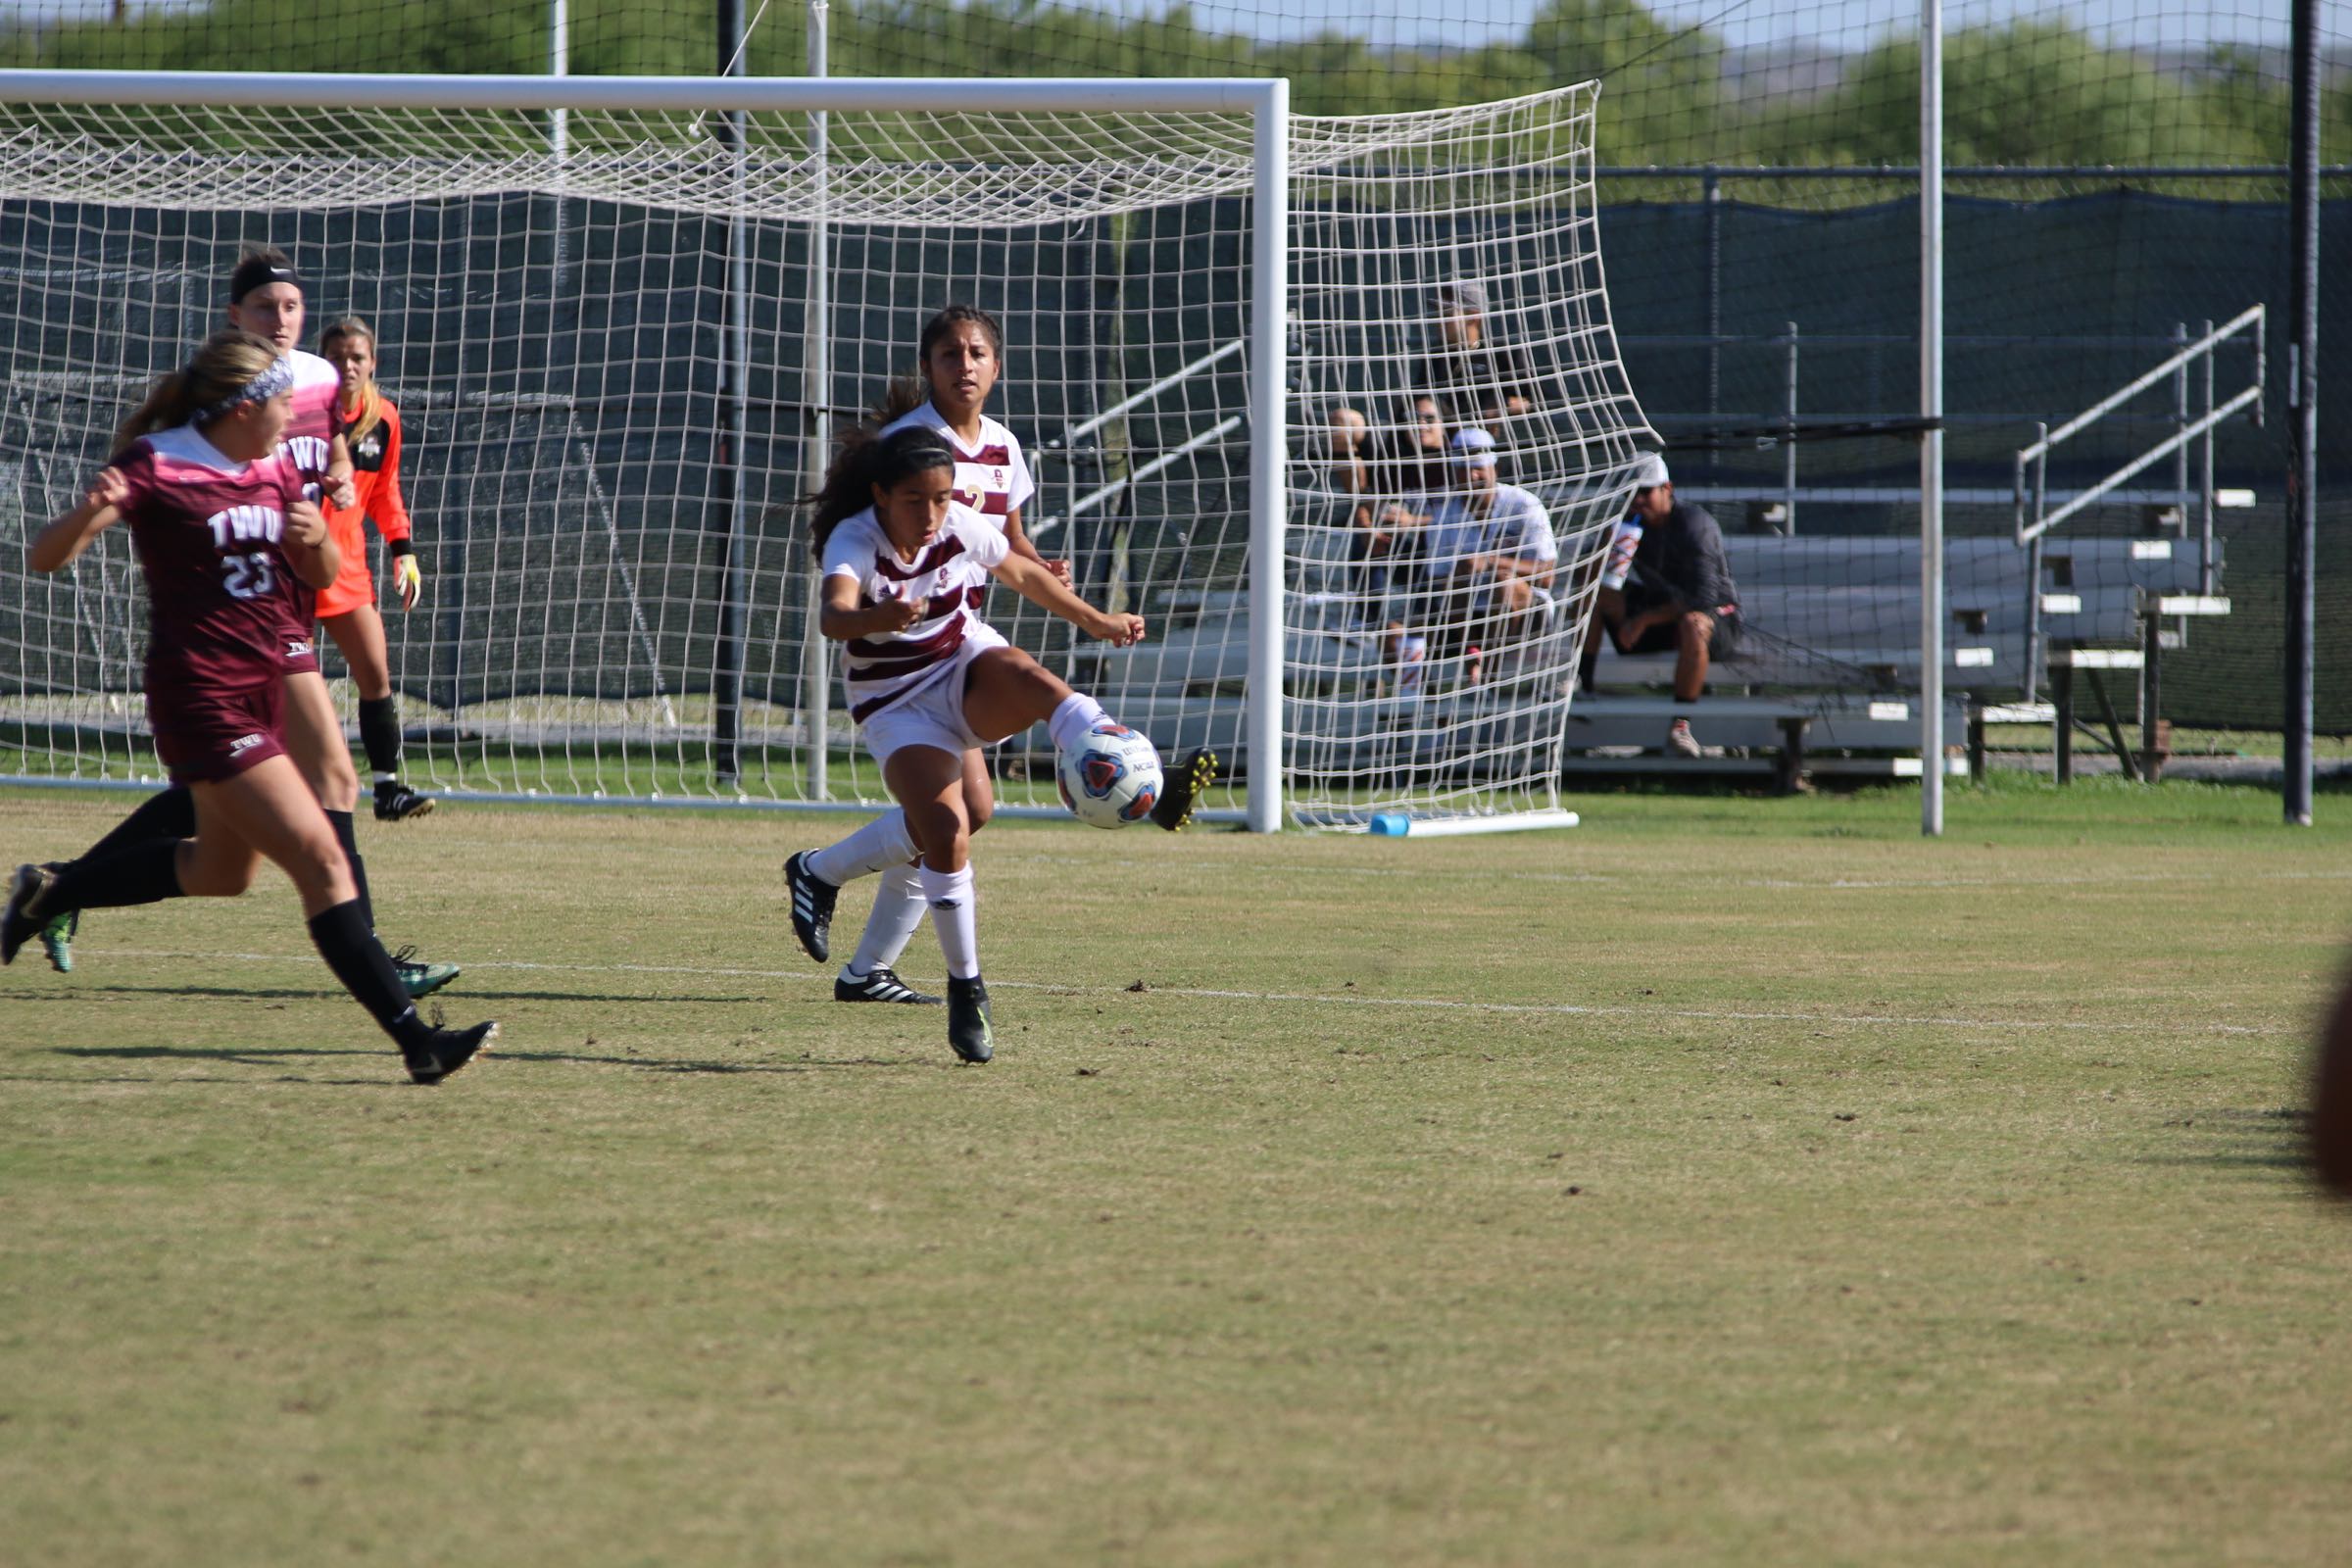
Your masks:
{"label": "dry yellowish-green grass field under the players", "polygon": [[990,1067],[793,947],[851,818],[367,825],[435,1091],[282,884],[96,914],[0,976],[0,1559],[2345,1561],[2352,802],[1571,804],[990,827]]}

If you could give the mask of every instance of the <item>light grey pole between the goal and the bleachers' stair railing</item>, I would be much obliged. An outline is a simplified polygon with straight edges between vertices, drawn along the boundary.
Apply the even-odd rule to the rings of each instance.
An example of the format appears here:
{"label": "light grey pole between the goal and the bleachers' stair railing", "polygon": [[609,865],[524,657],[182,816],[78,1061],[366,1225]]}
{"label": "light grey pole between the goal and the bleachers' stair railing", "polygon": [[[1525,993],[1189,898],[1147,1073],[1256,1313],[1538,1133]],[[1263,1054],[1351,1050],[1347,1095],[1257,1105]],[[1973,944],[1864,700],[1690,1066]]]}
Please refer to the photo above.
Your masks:
{"label": "light grey pole between the goal and the bleachers' stair railing", "polygon": [[[2310,2],[2310,0],[2298,0]],[[1919,832],[1943,832],[1943,0],[1919,12]]]}

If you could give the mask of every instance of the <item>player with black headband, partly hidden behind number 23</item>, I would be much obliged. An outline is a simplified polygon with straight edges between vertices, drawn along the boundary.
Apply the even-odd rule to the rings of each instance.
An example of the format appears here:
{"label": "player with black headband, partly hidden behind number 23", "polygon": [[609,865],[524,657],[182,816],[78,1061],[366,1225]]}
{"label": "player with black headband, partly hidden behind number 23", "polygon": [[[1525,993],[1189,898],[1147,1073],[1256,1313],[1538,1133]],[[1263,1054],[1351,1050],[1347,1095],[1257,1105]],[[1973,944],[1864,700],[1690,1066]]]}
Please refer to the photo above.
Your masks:
{"label": "player with black headband, partly hidden behind number 23", "polygon": [[[285,252],[256,249],[238,259],[228,277],[228,324],[268,339],[294,367],[292,416],[285,430],[287,454],[294,468],[313,487],[313,501],[325,498],[336,508],[358,503],[353,487],[350,449],[336,428],[334,404],[341,390],[341,374],[313,353],[296,348],[303,329],[303,287],[294,263]],[[343,722],[334,712],[334,698],[318,672],[315,646],[318,595],[303,585],[292,585],[285,625],[285,682],[287,682],[287,755],[310,780],[327,823],[334,827],[350,875],[360,884],[360,912],[369,929],[376,924],[374,900],[367,891],[367,860],[360,858],[360,839],[350,813],[360,802],[360,773],[350,766],[350,745],[343,741]],[[82,851],[82,858],[111,853],[125,844],[146,839],[186,839],[195,832],[195,806],[181,788],[148,797],[136,811],[113,827],[103,839]],[[49,870],[61,870],[52,865]],[[73,969],[75,914],[56,914],[42,926],[40,940],[49,964],[59,971]],[[416,957],[414,947],[393,954],[400,983],[412,997],[428,997],[459,976],[456,964],[433,964]]]}

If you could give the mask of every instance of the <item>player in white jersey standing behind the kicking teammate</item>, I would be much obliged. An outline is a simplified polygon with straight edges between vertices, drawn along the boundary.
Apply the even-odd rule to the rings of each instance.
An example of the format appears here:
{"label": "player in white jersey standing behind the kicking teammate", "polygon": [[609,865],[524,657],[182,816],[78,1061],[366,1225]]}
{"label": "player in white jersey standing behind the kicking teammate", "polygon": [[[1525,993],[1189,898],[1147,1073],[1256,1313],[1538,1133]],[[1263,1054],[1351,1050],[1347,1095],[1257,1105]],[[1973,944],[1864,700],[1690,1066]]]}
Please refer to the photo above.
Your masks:
{"label": "player in white jersey standing behind the kicking teammate", "polygon": [[[955,458],[953,498],[1004,534],[1007,548],[1037,562],[1063,583],[1070,581],[1070,562],[1047,559],[1021,527],[1021,508],[1037,494],[1028,461],[1021,456],[1021,440],[988,418],[988,395],[1004,374],[1004,329],[997,317],[978,306],[948,306],[922,324],[917,346],[920,378],[891,383],[882,402],[882,435],[898,430],[931,430]],[[971,590],[974,614],[988,609],[988,585]],[[967,799],[978,802],[971,830],[988,825],[993,792],[988,788],[988,762],[981,752],[964,757]],[[1190,816],[1190,802],[1216,778],[1216,757],[1190,752],[1174,778],[1185,780],[1185,806],[1181,811],[1155,809],[1152,820],[1169,830],[1181,830]],[[1164,806],[1164,802],[1160,802]],[[858,950],[842,964],[833,980],[835,1001],[929,1001],[938,997],[917,992],[898,978],[894,969],[898,954],[922,926],[922,879],[913,865],[906,818],[898,811],[866,823],[854,835],[828,849],[795,856],[786,867],[793,884],[793,929],[800,933],[809,957],[823,964],[833,957],[833,900],[842,884],[880,872],[873,910],[866,914],[866,933]]]}

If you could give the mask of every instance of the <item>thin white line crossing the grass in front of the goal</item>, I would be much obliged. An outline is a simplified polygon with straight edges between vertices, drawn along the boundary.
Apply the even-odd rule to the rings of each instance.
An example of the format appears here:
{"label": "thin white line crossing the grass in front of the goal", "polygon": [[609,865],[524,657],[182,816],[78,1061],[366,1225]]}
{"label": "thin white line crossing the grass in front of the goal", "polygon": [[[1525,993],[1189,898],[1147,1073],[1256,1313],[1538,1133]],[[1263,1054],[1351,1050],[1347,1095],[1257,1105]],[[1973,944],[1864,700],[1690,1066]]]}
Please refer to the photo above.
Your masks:
{"label": "thin white line crossing the grass in front of the goal", "polygon": [[[207,961],[235,961],[235,964],[303,964],[313,959],[308,954],[285,954],[285,952],[179,952],[162,947],[113,947],[115,957],[125,959],[207,959]],[[696,964],[534,964],[524,959],[480,959],[468,961],[468,971],[499,969],[515,973],[567,973],[567,976],[689,976],[703,980],[802,980],[823,983],[833,980],[833,966],[816,969],[722,969],[722,966],[696,966]],[[1033,990],[1033,992],[1058,992],[1065,997],[1122,997],[1124,985],[1112,985],[1096,990],[1091,985],[1063,985],[1047,980],[988,980],[990,990]],[[1844,1027],[1907,1027],[1907,1030],[1978,1030],[1985,1034],[1999,1034],[2004,1030],[2027,1030],[2027,1032],[2084,1032],[2084,1034],[2286,1034],[2286,1030],[2272,1030],[2263,1025],[2239,1025],[2239,1023],[2192,1023],[2192,1020],[2117,1020],[2117,1023],[2082,1023],[2072,1018],[1940,1018],[1940,1016],[1900,1016],[1900,1013],[1766,1013],[1745,1009],[1684,1009],[1684,1006],[1585,1006],[1576,1001],[1451,1001],[1444,997],[1350,997],[1345,992],[1247,992],[1247,990],[1214,990],[1200,985],[1152,985],[1152,997],[1188,997],[1204,1001],[1298,1001],[1310,1006],[1369,1006],[1369,1009],[1421,1009],[1432,1013],[1522,1013],[1538,1018],[1686,1018],[1693,1023],[1820,1023],[1820,1025],[1844,1025]],[[463,997],[463,992],[456,992]],[[626,1001],[626,997],[614,997],[614,1001]]]}

